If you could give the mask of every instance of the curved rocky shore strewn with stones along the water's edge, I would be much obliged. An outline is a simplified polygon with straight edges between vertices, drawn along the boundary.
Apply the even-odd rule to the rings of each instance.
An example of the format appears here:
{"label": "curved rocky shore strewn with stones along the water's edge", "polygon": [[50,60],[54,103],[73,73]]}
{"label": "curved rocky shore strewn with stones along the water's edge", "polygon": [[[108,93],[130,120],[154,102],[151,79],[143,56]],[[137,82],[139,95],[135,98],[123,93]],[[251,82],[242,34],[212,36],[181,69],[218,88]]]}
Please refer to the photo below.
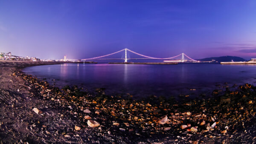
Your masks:
{"label": "curved rocky shore strewn with stones along the water's edge", "polygon": [[0,61],[1,143],[253,143],[256,87],[177,102],[152,96],[58,89],[25,75],[26,66],[56,64]]}

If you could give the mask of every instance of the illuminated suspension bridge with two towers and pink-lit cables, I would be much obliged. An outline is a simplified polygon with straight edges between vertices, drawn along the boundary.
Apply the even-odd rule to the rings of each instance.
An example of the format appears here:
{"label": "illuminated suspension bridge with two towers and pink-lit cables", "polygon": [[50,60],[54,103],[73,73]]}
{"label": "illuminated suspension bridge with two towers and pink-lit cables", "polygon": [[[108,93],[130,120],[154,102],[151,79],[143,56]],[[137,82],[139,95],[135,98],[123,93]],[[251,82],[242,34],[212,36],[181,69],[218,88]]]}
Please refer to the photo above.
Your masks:
{"label": "illuminated suspension bridge with two towers and pink-lit cables", "polygon": [[[117,53],[120,53],[120,52],[123,52],[125,51],[125,56],[124,58],[108,58],[108,56],[110,55],[114,55],[114,54],[117,54]],[[127,52],[131,52],[135,55],[140,55],[142,58],[128,58],[127,57]],[[179,58],[180,57],[180,58]],[[180,62],[186,62],[186,61],[189,61],[189,62],[192,62],[192,61],[197,61],[197,60],[194,60],[192,58],[190,58],[189,56],[187,56],[185,53],[181,53],[180,55],[176,55],[174,57],[170,57],[170,58],[154,58],[154,57],[150,57],[150,56],[146,56],[146,55],[142,55],[142,54],[139,54],[137,52],[134,52],[130,49],[122,49],[118,52],[113,52],[111,54],[108,54],[108,55],[102,55],[102,56],[99,56],[99,57],[95,57],[95,58],[87,58],[87,59],[81,59],[81,61],[87,61],[87,60],[125,60],[125,63],[128,62],[128,60],[131,60],[131,59],[155,59],[155,60],[176,60],[176,61],[180,61]]]}

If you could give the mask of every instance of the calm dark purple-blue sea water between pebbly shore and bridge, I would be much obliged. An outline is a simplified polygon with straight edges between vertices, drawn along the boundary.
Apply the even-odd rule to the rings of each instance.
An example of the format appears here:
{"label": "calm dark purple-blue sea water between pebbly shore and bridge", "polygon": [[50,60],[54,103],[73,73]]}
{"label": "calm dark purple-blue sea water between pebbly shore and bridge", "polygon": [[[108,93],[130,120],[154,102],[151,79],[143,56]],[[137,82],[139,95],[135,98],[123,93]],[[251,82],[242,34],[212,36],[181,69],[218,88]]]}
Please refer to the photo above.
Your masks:
{"label": "calm dark purple-blue sea water between pebbly shore and bridge", "polygon": [[[212,90],[234,84],[256,84],[256,65],[180,63],[177,65],[61,64],[23,70],[46,78],[50,84],[82,86],[89,91],[106,88],[108,95],[156,96],[211,95]],[[221,85],[218,87],[216,85]],[[196,90],[190,90],[196,89]]]}

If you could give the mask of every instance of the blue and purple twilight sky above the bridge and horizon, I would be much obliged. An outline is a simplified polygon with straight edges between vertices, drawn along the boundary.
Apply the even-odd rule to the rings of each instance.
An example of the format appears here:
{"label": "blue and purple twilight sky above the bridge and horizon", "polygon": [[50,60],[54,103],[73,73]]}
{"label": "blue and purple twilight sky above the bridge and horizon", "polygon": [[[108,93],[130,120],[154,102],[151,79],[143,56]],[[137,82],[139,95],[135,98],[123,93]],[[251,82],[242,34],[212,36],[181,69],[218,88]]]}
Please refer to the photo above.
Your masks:
{"label": "blue and purple twilight sky above the bridge and horizon", "polygon": [[256,58],[256,0],[0,0],[0,52]]}

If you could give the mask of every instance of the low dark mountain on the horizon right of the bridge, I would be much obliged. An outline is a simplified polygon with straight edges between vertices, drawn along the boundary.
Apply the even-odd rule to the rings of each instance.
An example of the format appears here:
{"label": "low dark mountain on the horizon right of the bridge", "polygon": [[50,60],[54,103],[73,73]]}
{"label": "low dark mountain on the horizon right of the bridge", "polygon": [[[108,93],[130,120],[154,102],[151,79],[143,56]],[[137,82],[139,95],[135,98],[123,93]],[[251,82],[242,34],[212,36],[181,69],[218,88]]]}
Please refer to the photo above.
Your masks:
{"label": "low dark mountain on the horizon right of the bridge", "polygon": [[226,62],[226,61],[247,61],[244,58],[240,57],[234,57],[234,56],[223,56],[223,57],[212,57],[212,58],[203,58],[203,59],[198,59],[200,61],[212,61],[215,60],[216,62]]}

